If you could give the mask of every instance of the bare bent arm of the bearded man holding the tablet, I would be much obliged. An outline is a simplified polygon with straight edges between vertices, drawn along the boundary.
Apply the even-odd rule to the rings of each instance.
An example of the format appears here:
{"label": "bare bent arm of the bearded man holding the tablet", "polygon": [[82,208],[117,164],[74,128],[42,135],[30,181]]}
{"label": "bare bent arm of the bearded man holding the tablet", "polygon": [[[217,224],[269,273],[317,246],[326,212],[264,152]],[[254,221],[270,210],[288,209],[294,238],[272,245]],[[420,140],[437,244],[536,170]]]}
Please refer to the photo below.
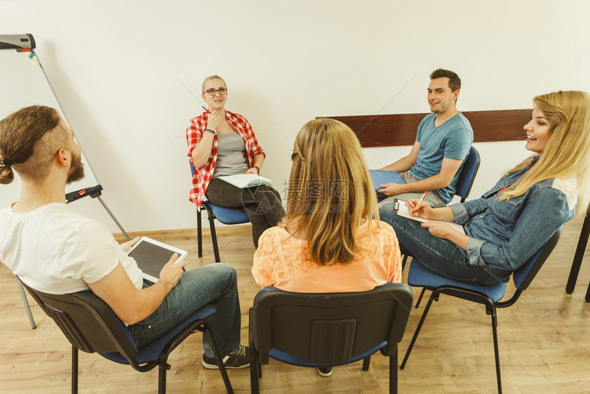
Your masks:
{"label": "bare bent arm of the bearded man holding the tablet", "polygon": [[120,262],[106,277],[88,286],[122,321],[134,324],[154,313],[182,277],[185,262],[174,264],[176,259],[175,253],[162,268],[160,280],[148,288],[135,288]]}

